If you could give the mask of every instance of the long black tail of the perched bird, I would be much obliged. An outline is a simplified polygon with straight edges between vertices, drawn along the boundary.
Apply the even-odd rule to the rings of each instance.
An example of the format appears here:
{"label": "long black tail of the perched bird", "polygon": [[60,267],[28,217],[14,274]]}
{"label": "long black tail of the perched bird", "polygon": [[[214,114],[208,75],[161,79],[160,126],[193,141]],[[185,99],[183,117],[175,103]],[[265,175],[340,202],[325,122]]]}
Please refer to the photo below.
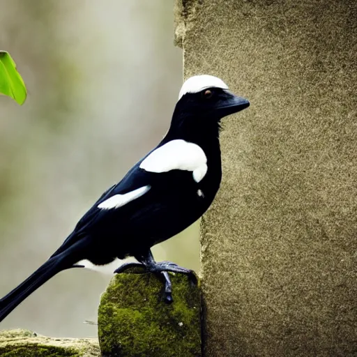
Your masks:
{"label": "long black tail of the perched bird", "polygon": [[[77,242],[79,243],[79,242]],[[75,244],[77,245],[77,244]],[[54,255],[48,259],[45,264],[40,266],[33,274],[29,276],[18,287],[15,287],[13,291],[10,291],[6,296],[0,299],[0,321],[5,319],[11,311],[20,305],[27,296],[33,293],[41,285],[45,284],[47,280],[50,280],[54,275],[60,271],[72,268],[73,264],[83,259],[79,257],[76,252],[80,252],[80,248],[71,247],[59,255]]]}

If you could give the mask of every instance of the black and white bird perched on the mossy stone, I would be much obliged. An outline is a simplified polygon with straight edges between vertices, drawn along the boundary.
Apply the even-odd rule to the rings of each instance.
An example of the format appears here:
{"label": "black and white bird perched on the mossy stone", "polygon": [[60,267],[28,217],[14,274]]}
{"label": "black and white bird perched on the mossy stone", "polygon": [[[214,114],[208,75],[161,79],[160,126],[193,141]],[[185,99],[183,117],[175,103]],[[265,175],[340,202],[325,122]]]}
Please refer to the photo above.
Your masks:
{"label": "black and white bird perched on the mossy stone", "polygon": [[0,299],[0,321],[57,273],[135,257],[114,271],[132,266],[153,273],[163,282],[172,303],[168,272],[195,273],[170,261],[155,261],[153,245],[166,241],[196,222],[208,209],[222,177],[220,121],[250,102],[234,95],[213,75],[188,78],[179,91],[172,120],[158,146],[107,189],[77,222],[62,245],[29,278]]}

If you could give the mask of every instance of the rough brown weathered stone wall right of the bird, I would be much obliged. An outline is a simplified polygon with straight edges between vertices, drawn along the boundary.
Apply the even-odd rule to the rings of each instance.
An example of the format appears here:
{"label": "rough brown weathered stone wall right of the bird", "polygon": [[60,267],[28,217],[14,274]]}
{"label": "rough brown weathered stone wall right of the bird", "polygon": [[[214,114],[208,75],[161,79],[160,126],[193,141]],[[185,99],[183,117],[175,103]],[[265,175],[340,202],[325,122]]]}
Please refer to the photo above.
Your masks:
{"label": "rough brown weathered stone wall right of the bird", "polygon": [[176,0],[184,77],[225,119],[202,220],[207,357],[357,354],[357,2]]}

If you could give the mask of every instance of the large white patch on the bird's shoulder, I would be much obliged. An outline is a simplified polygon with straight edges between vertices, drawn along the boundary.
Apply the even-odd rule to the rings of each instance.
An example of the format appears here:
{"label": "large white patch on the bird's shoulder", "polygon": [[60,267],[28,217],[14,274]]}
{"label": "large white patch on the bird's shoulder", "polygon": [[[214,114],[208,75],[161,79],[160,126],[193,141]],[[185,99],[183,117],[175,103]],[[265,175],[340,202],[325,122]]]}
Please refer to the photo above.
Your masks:
{"label": "large white patch on the bird's shoulder", "polygon": [[192,171],[193,179],[201,181],[207,172],[207,158],[197,144],[182,139],[172,140],[155,149],[140,164],[148,172],[169,172],[171,170]]}

